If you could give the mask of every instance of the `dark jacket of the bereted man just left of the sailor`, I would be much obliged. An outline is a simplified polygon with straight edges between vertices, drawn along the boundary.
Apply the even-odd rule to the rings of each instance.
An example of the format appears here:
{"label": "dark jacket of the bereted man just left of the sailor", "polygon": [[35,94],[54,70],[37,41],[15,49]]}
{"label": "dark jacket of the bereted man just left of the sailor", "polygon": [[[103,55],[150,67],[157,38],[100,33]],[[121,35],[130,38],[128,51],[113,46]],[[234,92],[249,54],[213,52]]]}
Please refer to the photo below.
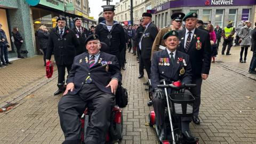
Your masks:
{"label": "dark jacket of the bereted man just left of the sailor", "polygon": [[79,33],[79,31],[75,28],[72,29],[76,35],[76,37],[78,38],[79,40],[79,46],[77,46],[77,49],[76,49],[76,55],[79,55],[79,54],[82,54],[83,52],[87,51],[86,48],[85,48],[85,39],[87,38],[88,36],[88,30],[84,27],[81,27],[81,33]]}

